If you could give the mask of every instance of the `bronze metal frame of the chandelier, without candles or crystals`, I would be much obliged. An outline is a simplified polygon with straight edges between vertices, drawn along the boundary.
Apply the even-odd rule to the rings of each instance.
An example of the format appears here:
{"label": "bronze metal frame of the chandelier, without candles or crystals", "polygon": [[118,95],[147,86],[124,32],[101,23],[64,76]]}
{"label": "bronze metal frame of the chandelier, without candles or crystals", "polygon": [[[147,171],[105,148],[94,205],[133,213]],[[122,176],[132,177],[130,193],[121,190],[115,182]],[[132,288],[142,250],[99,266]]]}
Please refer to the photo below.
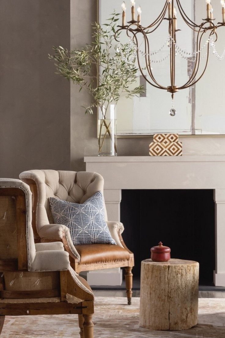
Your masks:
{"label": "bronze metal frame of the chandelier, without candles or crystals", "polygon": [[[171,18],[166,17],[167,11],[168,11],[168,6],[172,6],[172,16]],[[175,43],[176,43],[176,33],[179,31],[179,29],[176,29],[176,20],[177,18],[174,15],[174,5],[177,6],[177,9],[181,15],[181,18],[185,21],[185,23],[190,27],[193,31],[197,32],[197,39],[196,39],[196,60],[194,62],[194,67],[192,74],[189,78],[189,80],[184,83],[182,86],[178,87],[175,84],[175,79],[176,79],[176,49],[175,49]],[[170,85],[168,87],[162,86],[160,83],[157,82],[157,80],[154,78],[154,75],[152,74],[151,70],[151,59],[150,59],[150,44],[148,41],[148,35],[153,33],[162,23],[163,20],[168,20],[169,21],[169,35],[171,37],[171,45],[170,45]],[[158,89],[163,89],[167,90],[167,92],[171,93],[172,99],[174,97],[174,93],[178,92],[181,89],[186,89],[191,86],[193,86],[195,83],[197,83],[202,76],[204,75],[207,65],[208,65],[208,60],[209,60],[209,50],[210,50],[210,44],[209,40],[212,37],[212,35],[215,34],[215,40],[214,42],[217,41],[217,32],[216,29],[219,27],[225,26],[225,23],[219,22],[217,25],[214,24],[215,19],[211,18],[206,18],[202,19],[203,22],[201,24],[196,24],[193,22],[185,13],[184,9],[182,8],[180,4],[180,0],[171,0],[168,1],[166,0],[166,3],[162,9],[162,12],[158,16],[158,18],[153,21],[149,26],[143,27],[140,24],[140,21],[135,21],[131,20],[128,22],[128,25],[125,26],[118,26],[118,30],[115,32],[115,40],[119,42],[118,40],[118,33],[121,30],[126,30],[126,34],[128,35],[129,38],[132,38],[132,41],[134,42],[136,49],[137,49],[137,62],[139,66],[139,70],[144,77],[144,79],[153,87],[158,88]],[[202,38],[205,33],[209,33],[208,37],[208,44],[207,44],[207,51],[206,51],[206,58],[205,58],[205,66],[203,68],[203,71],[200,72],[200,62],[201,62],[201,46],[202,46]],[[144,39],[144,53],[145,53],[145,64],[146,64],[146,69],[147,73],[150,76],[150,79],[146,77],[144,74],[141,64],[140,64],[140,52],[139,52],[139,47],[138,47],[138,34],[143,35]]]}

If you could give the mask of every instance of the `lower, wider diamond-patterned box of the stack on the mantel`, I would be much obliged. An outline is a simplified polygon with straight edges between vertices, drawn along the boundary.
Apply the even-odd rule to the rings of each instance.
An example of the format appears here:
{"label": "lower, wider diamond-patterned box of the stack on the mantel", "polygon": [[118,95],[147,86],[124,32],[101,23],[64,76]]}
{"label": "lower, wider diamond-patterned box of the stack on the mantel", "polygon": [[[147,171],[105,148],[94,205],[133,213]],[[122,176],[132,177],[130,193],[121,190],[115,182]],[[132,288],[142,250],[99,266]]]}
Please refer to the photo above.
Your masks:
{"label": "lower, wider diamond-patterned box of the stack on the mantel", "polygon": [[151,142],[149,144],[150,156],[181,156],[182,142]]}

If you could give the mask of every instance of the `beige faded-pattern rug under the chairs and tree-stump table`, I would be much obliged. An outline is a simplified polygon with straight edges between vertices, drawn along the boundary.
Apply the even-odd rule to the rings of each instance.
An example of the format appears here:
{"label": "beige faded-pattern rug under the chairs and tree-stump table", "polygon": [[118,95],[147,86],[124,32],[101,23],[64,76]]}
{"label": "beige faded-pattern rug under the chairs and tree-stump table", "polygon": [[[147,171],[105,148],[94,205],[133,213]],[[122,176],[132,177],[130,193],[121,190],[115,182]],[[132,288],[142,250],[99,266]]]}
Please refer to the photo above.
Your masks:
{"label": "beige faded-pattern rug under the chairs and tree-stump table", "polygon": [[[140,298],[96,297],[94,338],[225,338],[225,298],[199,298],[198,325],[186,331],[138,326]],[[5,317],[0,338],[79,338],[77,315]]]}

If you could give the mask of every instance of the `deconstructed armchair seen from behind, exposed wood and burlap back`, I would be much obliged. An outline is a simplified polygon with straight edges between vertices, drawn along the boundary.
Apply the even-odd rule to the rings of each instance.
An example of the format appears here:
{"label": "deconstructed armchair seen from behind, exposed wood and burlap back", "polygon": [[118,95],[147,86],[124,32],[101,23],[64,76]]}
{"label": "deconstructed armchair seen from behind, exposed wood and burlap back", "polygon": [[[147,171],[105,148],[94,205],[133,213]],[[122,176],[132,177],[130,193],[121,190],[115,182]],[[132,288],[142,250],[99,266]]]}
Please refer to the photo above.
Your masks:
{"label": "deconstructed armchair seen from behind, exposed wood and burlap back", "polygon": [[0,179],[0,334],[5,316],[78,314],[81,338],[93,338],[93,293],[71,268],[63,244],[34,244],[31,191]]}

